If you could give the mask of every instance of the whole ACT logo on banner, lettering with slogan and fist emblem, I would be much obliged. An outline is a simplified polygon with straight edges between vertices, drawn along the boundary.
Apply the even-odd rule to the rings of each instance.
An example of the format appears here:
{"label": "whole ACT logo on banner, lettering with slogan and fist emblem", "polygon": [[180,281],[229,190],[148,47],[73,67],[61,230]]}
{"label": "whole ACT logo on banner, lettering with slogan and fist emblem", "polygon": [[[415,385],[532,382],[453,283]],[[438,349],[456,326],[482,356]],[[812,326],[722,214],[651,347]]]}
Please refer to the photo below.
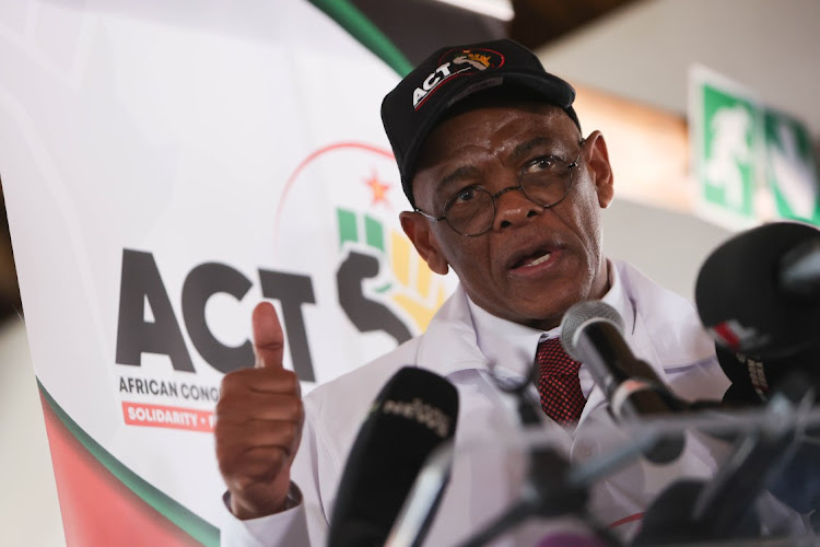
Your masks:
{"label": "whole ACT logo on banner, lettering with slogan and fist emblem", "polygon": [[[393,154],[367,143],[321,147],[289,176],[272,217],[276,266],[258,267],[257,277],[261,298],[279,304],[303,382],[325,382],[409,340],[444,302],[454,279],[433,275],[401,231],[406,201]],[[177,315],[154,255],[124,249],[116,363],[126,365],[126,424],[212,431],[214,373],[249,366],[254,356],[248,337],[224,340],[209,302],[254,300],[256,281],[229,264],[196,265]]]}

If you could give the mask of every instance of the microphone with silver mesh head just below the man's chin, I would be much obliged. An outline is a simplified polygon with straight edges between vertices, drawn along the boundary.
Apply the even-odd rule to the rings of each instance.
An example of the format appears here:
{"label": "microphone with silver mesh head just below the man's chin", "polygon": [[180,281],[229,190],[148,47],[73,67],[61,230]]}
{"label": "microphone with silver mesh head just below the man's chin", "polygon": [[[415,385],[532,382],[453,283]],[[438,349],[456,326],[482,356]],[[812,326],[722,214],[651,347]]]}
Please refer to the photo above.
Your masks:
{"label": "microphone with silver mesh head just below the man's chin", "polygon": [[[600,300],[579,302],[561,321],[561,345],[586,364],[601,387],[616,420],[633,420],[684,408],[648,363],[637,359],[623,338],[623,319]],[[660,439],[644,453],[653,463],[666,464],[683,450],[683,438]]]}

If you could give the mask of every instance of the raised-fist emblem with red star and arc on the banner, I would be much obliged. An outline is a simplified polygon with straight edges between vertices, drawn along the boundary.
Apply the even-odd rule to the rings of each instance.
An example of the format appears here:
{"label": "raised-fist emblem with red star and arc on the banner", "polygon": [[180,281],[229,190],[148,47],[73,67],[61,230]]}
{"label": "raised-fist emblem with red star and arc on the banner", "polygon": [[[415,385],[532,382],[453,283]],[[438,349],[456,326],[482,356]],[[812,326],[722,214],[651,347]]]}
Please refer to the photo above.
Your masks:
{"label": "raised-fist emblem with red star and arc on the banner", "polygon": [[[378,146],[329,143],[289,177],[276,212],[273,260],[311,272],[315,288],[306,351],[292,353],[303,381],[329,380],[422,333],[455,287],[455,276],[434,275],[405,235],[398,216],[407,208],[393,153]],[[296,349],[292,322],[284,322]],[[324,342],[316,341],[319,333]],[[335,345],[347,352],[329,351]],[[348,362],[338,362],[342,356]]]}

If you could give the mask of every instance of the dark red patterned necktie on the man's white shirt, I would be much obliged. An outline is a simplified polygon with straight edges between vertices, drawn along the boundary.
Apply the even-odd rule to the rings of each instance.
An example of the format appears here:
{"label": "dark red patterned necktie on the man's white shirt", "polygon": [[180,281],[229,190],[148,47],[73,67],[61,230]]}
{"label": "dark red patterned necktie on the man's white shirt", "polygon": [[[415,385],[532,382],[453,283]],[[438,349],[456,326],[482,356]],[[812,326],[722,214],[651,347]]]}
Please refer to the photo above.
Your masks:
{"label": "dark red patterned necktie on the man's white shirt", "polygon": [[538,345],[536,362],[541,408],[561,426],[576,423],[586,404],[578,380],[581,363],[566,354],[559,338]]}

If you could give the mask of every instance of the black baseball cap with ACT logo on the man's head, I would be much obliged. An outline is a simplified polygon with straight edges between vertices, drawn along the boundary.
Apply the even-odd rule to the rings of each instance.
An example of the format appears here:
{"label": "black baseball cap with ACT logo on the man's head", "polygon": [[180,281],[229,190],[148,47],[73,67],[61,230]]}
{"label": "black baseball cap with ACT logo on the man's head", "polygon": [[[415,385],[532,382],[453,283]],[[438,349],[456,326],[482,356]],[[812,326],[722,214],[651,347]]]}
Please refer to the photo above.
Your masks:
{"label": "black baseball cap with ACT logo on the man's head", "polygon": [[563,108],[581,129],[572,107],[573,86],[547,72],[538,57],[520,44],[499,39],[437,49],[382,102],[382,123],[410,205],[415,206],[415,156],[430,131],[459,101],[499,88],[523,89],[528,96]]}

